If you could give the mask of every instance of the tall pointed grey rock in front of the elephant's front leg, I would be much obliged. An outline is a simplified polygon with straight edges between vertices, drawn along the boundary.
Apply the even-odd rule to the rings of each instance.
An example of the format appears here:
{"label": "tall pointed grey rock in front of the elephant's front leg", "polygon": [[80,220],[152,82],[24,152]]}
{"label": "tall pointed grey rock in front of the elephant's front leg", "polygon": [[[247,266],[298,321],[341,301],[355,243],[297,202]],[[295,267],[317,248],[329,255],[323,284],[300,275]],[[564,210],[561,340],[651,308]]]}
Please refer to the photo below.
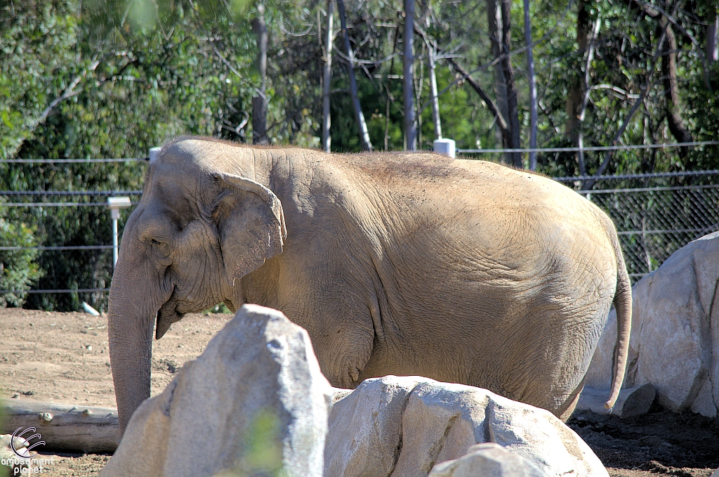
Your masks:
{"label": "tall pointed grey rock in front of the elephant's front leg", "polygon": [[331,387],[307,332],[245,305],[134,412],[101,477],[320,477]]}

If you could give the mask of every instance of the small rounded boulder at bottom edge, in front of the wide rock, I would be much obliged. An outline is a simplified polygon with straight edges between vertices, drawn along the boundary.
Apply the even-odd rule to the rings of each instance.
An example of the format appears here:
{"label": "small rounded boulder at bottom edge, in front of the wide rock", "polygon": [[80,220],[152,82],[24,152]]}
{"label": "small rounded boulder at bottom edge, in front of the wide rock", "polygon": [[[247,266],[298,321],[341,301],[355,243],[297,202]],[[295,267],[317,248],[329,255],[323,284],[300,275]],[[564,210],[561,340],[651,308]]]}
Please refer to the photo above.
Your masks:
{"label": "small rounded boulder at bottom edge, in front of the wide rock", "polygon": [[459,459],[435,465],[429,477],[544,477],[531,462],[499,444],[475,444]]}

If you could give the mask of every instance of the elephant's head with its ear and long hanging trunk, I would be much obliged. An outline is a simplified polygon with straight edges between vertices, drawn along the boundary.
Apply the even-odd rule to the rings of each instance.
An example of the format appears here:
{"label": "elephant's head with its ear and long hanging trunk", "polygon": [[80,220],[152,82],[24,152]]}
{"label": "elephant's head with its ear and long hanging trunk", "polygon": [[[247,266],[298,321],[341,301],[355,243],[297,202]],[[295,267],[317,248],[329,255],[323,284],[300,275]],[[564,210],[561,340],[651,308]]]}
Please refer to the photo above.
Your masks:
{"label": "elephant's head with its ear and long hanging trunk", "polygon": [[237,174],[237,165],[235,173],[219,170],[215,164],[222,162],[166,147],[150,166],[142,201],[124,228],[108,317],[123,432],[150,396],[155,317],[159,339],[183,314],[221,301],[239,306],[242,276],[283,250],[277,196]]}

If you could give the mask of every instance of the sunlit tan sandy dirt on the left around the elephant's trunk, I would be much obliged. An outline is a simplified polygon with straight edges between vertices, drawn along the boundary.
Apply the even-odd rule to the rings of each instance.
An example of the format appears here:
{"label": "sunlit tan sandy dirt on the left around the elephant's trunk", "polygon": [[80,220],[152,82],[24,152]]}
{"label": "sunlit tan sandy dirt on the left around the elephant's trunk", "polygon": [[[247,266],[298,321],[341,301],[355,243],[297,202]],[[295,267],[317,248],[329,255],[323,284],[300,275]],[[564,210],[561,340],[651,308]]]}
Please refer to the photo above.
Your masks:
{"label": "sunlit tan sandy dirt on the left around the elephant's trunk", "polygon": [[[186,361],[197,358],[231,318],[188,314],[162,340],[153,340],[152,396],[165,389]],[[0,399],[114,407],[106,317],[0,309]],[[54,460],[44,476],[96,476],[109,459],[42,454]]]}

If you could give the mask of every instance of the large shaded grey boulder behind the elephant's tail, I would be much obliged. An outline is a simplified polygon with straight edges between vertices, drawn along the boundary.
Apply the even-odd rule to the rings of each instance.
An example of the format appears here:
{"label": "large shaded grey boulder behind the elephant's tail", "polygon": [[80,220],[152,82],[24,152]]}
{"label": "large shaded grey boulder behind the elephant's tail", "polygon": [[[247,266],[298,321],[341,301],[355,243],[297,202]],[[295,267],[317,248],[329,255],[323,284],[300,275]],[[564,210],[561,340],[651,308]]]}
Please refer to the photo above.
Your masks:
{"label": "large shaded grey boulder behind the elephant's tail", "polygon": [[[716,417],[719,404],[719,232],[677,250],[632,289],[624,386],[651,383],[659,404]],[[617,333],[612,311],[587,373],[609,389]]]}

